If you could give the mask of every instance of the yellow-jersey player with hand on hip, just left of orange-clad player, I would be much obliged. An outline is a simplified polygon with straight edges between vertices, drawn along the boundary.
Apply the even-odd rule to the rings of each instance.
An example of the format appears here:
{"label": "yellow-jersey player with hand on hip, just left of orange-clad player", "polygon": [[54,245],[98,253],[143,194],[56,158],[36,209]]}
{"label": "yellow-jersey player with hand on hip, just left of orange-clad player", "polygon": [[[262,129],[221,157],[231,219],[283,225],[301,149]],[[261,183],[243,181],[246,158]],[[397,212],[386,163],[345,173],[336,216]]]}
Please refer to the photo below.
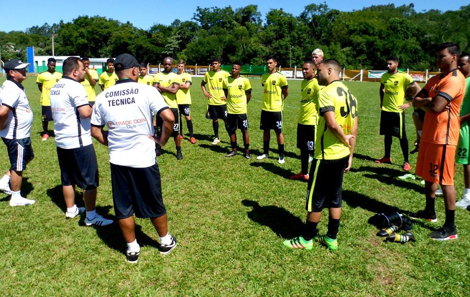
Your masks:
{"label": "yellow-jersey player with hand on hip, just left of orange-clad player", "polygon": [[[411,106],[413,97],[421,90],[413,78],[398,70],[398,57],[387,58],[387,72],[380,78],[380,135],[384,135],[385,155],[376,163],[392,163],[390,151],[392,137],[400,139],[403,153],[403,170],[410,171],[408,139],[405,129],[405,110]],[[406,99],[406,103],[403,103]]]}

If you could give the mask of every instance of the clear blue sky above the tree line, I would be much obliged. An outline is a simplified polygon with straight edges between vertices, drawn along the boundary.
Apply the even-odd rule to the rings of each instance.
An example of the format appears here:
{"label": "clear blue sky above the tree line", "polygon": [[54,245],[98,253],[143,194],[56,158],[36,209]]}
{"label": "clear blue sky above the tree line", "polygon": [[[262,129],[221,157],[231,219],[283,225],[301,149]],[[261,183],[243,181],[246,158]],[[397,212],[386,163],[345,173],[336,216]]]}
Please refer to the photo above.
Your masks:
{"label": "clear blue sky above the tree line", "polygon": [[[258,4],[258,11],[261,12],[262,17],[271,8],[281,8],[298,16],[303,10],[304,6],[310,3],[322,3],[323,1],[314,0],[226,0],[226,1],[210,1],[210,0],[180,0],[180,1],[124,1],[124,0],[99,0],[90,1],[89,8],[86,7],[86,1],[59,1],[47,0],[44,2],[21,0],[21,1],[7,1],[0,0],[1,4],[1,25],[0,31],[23,31],[28,27],[44,23],[59,23],[63,20],[65,23],[70,22],[80,15],[88,16],[103,16],[112,18],[120,22],[131,22],[135,26],[142,29],[148,29],[154,23],[162,23],[168,25],[175,19],[181,21],[190,20],[196,7],[226,7],[232,8],[244,7],[249,4]],[[442,1],[442,0],[416,0],[412,1],[415,4],[415,10],[422,12],[429,9],[439,9],[441,11],[458,10],[461,6],[468,5],[468,0],[455,0],[455,1]],[[47,5],[45,5],[47,3]],[[129,5],[132,3],[132,5]],[[179,6],[176,7],[175,3]],[[292,3],[286,6],[286,3]],[[408,5],[410,1],[403,0],[359,0],[359,1],[340,1],[329,0],[327,4],[330,8],[338,9],[341,11],[360,10],[363,7],[369,7],[377,4],[394,3],[395,6],[403,4]],[[442,5],[445,3],[445,5]]]}

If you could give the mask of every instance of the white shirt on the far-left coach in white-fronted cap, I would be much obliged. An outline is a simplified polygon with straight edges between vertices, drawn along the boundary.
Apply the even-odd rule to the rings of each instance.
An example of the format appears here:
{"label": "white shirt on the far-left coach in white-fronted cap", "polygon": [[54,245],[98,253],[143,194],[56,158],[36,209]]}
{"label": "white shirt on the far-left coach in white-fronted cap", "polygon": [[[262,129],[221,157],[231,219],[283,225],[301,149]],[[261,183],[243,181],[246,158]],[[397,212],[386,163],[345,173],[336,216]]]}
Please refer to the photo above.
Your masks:
{"label": "white shirt on the far-left coach in white-fronted cap", "polygon": [[6,127],[0,131],[0,136],[7,139],[29,137],[33,111],[23,86],[14,80],[6,80],[0,87],[0,102],[10,109]]}

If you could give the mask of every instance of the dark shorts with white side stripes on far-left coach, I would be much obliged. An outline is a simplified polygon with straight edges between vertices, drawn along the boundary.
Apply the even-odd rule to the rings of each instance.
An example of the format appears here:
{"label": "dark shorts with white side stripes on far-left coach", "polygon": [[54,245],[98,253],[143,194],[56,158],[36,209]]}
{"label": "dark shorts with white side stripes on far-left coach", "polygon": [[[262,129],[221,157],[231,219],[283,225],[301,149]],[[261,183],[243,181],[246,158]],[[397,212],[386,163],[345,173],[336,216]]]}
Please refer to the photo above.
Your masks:
{"label": "dark shorts with white side stripes on far-left coach", "polygon": [[10,159],[10,170],[23,171],[26,169],[26,163],[34,158],[31,138],[7,139],[1,137],[6,145],[8,158]]}

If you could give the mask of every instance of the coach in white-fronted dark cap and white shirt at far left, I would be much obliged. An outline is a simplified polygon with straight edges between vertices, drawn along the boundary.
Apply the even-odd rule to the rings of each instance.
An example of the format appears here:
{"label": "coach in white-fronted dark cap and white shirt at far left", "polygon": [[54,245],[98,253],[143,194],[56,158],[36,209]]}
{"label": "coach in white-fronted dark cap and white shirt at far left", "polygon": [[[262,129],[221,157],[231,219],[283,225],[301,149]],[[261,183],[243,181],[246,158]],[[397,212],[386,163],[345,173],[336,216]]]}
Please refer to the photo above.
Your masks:
{"label": "coach in white-fronted dark cap and white shirt at far left", "polygon": [[[0,88],[0,136],[5,143],[10,158],[11,199],[10,206],[25,206],[35,201],[21,196],[23,170],[34,158],[31,146],[31,124],[33,112],[21,83],[26,79],[26,67],[29,63],[13,59],[3,64],[6,81]],[[1,179],[2,191],[7,192],[8,175]],[[6,183],[5,183],[6,182]]]}

